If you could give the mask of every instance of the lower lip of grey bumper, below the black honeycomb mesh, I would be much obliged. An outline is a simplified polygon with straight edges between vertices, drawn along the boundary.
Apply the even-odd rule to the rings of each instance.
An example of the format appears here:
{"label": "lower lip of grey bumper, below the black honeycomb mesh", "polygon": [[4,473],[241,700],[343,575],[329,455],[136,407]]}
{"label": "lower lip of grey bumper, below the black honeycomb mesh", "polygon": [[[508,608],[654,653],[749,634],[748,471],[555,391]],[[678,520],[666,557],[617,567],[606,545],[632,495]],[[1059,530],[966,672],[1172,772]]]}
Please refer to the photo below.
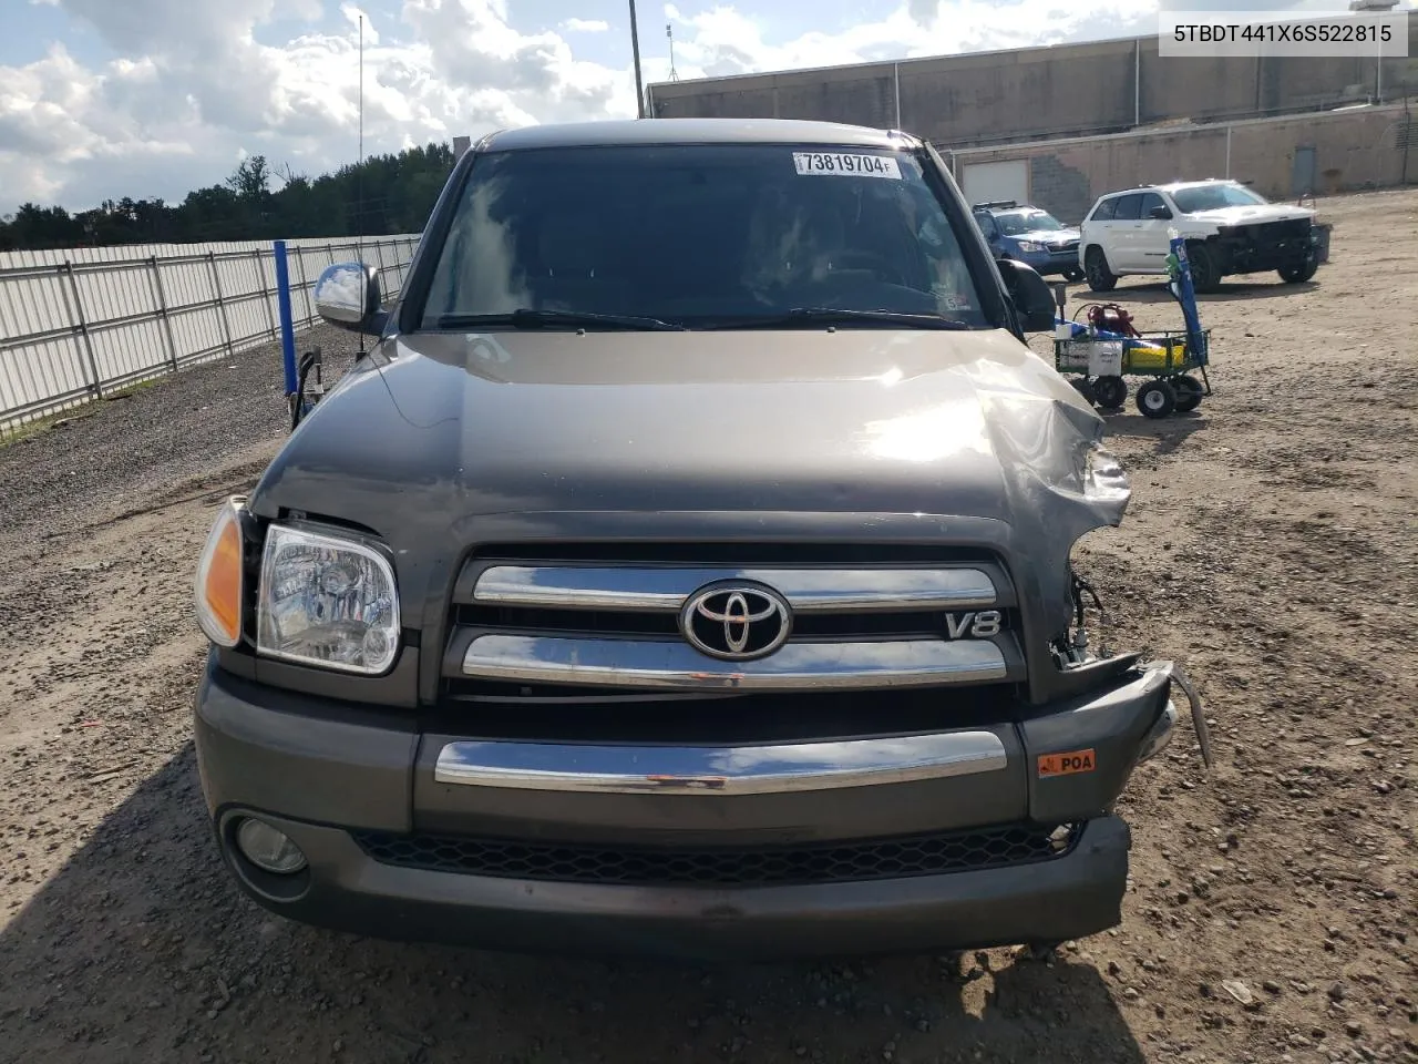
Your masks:
{"label": "lower lip of grey bumper, below the black honeycomb mesh", "polygon": [[[374,938],[584,955],[781,959],[1055,943],[1119,922],[1127,826],[1089,823],[1073,850],[1025,868],[739,890],[540,882],[380,864],[337,827],[284,817],[309,890],[274,912]],[[233,860],[228,853],[228,861]],[[235,858],[240,860],[240,858]],[[251,892],[238,872],[238,880]]]}

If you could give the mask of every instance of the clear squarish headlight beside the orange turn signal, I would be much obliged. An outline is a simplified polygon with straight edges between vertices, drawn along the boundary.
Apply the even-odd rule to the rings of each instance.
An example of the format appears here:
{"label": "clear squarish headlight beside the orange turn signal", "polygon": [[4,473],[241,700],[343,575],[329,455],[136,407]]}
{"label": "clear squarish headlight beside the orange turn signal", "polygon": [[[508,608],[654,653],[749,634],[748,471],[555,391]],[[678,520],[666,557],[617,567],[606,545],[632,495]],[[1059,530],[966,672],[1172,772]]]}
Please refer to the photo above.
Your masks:
{"label": "clear squarish headlight beside the orange turn signal", "polygon": [[257,653],[342,672],[384,672],[398,654],[398,592],[377,546],[272,525],[261,558]]}

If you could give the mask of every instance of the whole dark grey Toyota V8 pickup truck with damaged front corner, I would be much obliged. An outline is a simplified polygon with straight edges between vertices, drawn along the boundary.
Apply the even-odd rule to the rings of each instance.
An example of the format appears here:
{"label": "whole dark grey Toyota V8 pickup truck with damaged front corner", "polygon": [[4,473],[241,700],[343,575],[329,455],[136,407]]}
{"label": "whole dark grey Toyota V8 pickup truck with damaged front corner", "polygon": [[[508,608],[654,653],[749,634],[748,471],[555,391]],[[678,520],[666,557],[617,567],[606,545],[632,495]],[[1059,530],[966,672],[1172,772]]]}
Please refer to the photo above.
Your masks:
{"label": "whole dark grey Toyota V8 pickup truck with damaged front corner", "polygon": [[501,132],[380,292],[320,277],[377,340],[199,565],[197,758],[250,897],[681,958],[1120,919],[1115,802],[1181,677],[1089,638],[1071,558],[1127,480],[929,145]]}

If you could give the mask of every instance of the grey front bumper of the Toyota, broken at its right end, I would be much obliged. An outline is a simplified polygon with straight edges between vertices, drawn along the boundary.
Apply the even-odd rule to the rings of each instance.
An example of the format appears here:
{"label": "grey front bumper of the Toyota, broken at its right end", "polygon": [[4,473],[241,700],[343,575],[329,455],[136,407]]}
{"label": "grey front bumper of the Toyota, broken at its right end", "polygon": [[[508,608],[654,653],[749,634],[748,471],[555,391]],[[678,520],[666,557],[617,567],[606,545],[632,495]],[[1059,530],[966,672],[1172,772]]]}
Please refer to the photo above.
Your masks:
{"label": "grey front bumper of the Toyota, broken at its right end", "polygon": [[[940,750],[951,736],[974,736],[973,760],[844,769],[841,759],[828,763],[830,748],[879,753],[882,746],[813,743],[804,745],[817,756],[811,777],[760,766],[726,770],[706,785],[702,759],[692,759],[691,772],[662,772],[672,762],[657,753],[661,748],[644,748],[638,769],[627,766],[625,749],[584,748],[604,770],[569,765],[549,777],[546,750],[570,748],[420,733],[408,714],[257,685],[213,660],[196,699],[196,738],[228,868],[250,897],[296,921],[563,953],[922,952],[1058,942],[1119,922],[1129,830],[1110,809],[1137,762],[1170,738],[1170,667],[1157,665],[1066,705],[1035,708],[1028,719],[916,743],[906,736],[915,748],[939,741]],[[462,756],[447,756],[450,748]],[[481,755],[469,756],[469,748]],[[1075,762],[1069,770],[1061,760],[1082,752],[1092,767]],[[564,760],[553,755],[553,766],[557,756]],[[882,775],[872,777],[878,769]],[[459,780],[459,772],[472,777]],[[671,793],[657,793],[666,780]],[[719,793],[695,793],[705,786]],[[235,823],[250,814],[285,831],[308,867],[269,877],[250,865],[233,844]],[[1065,851],[1017,865],[746,885],[445,871],[379,858],[360,841],[372,831],[410,838],[462,831],[529,843],[725,850],[1015,821],[1078,827]]]}

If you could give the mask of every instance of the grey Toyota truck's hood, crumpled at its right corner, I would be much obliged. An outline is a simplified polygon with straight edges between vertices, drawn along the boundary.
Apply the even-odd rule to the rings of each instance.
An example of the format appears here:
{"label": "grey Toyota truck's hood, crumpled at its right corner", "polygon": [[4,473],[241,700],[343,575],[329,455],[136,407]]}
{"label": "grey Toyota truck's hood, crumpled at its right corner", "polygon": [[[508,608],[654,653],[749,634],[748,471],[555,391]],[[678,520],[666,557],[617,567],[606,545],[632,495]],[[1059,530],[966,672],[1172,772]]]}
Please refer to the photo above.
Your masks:
{"label": "grey Toyota truck's hood, crumpled at its right corner", "polygon": [[547,515],[590,515],[571,522],[588,535],[630,512],[727,515],[729,535],[766,514],[835,514],[832,535],[862,515],[991,519],[1048,563],[1122,519],[1102,430],[1007,332],[420,333],[332,389],[251,508],[364,526],[401,569],[498,529],[556,535]]}

